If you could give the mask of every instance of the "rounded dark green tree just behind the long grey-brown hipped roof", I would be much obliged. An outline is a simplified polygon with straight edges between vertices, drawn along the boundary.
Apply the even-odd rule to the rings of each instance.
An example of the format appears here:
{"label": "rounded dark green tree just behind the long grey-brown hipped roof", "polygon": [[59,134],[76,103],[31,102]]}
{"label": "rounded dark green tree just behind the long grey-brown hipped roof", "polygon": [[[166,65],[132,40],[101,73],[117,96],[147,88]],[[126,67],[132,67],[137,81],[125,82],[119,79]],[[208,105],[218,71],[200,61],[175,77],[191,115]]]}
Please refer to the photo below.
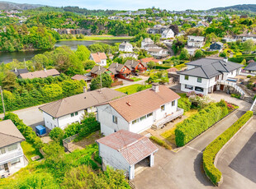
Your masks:
{"label": "rounded dark green tree just behind the long grey-brown hipped roof", "polygon": [[[103,87],[111,87],[112,79],[111,76],[107,74],[102,74],[102,88]],[[92,79],[90,84],[91,90],[97,90],[101,88],[101,78],[97,76],[96,78]]]}

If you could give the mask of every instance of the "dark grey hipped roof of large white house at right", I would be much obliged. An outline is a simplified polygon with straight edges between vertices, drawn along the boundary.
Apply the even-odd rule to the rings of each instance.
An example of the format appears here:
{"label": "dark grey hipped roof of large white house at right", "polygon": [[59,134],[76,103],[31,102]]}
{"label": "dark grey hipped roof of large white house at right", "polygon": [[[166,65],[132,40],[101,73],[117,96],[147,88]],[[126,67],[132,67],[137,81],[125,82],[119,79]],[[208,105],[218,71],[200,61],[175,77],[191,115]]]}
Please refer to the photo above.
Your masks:
{"label": "dark grey hipped roof of large white house at right", "polygon": [[243,65],[235,62],[225,62],[220,59],[201,58],[196,61],[187,62],[187,65],[195,66],[187,71],[180,71],[179,73],[187,76],[197,76],[206,79],[210,79],[214,76],[218,76],[223,72],[234,71]]}

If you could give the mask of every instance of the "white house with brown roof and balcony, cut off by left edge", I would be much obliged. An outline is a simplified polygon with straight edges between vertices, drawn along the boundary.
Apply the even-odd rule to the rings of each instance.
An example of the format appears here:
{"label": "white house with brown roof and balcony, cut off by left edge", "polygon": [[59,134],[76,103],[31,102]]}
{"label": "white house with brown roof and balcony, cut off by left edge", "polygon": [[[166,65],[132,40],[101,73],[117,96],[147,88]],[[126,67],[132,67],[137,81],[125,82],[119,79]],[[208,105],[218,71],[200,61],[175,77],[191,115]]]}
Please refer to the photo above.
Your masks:
{"label": "white house with brown roof and balcony, cut off by left edge", "polygon": [[21,148],[24,136],[11,120],[0,122],[0,176],[7,177],[26,167],[27,160]]}

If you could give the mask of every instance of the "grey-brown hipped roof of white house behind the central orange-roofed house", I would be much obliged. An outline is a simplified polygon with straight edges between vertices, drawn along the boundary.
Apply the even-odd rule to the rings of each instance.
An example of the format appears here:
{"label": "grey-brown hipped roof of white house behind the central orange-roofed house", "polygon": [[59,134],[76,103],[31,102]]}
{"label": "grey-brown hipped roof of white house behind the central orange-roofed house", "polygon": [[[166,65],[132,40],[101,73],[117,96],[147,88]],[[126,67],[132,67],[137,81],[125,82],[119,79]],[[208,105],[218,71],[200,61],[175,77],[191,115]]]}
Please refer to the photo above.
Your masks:
{"label": "grey-brown hipped roof of white house behind the central orange-roofed house", "polygon": [[54,118],[59,118],[68,115],[69,113],[96,106],[97,104],[106,103],[111,99],[116,99],[124,95],[124,93],[116,90],[102,88],[102,90],[92,90],[83,94],[59,99],[55,102],[41,106],[40,110],[48,113]]}

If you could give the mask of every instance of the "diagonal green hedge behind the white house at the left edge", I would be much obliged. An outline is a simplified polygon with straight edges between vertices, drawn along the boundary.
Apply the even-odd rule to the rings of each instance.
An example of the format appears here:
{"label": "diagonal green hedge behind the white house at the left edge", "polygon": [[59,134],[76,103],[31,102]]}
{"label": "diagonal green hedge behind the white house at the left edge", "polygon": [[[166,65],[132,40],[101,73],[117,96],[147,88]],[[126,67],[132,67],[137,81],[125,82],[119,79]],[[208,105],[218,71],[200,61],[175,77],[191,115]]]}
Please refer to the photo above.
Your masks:
{"label": "diagonal green hedge behind the white house at the left edge", "polygon": [[17,129],[21,131],[21,134],[26,138],[26,141],[31,142],[36,149],[40,149],[43,145],[40,137],[36,136],[36,132],[17,116],[15,113],[7,113],[4,120],[11,119]]}

